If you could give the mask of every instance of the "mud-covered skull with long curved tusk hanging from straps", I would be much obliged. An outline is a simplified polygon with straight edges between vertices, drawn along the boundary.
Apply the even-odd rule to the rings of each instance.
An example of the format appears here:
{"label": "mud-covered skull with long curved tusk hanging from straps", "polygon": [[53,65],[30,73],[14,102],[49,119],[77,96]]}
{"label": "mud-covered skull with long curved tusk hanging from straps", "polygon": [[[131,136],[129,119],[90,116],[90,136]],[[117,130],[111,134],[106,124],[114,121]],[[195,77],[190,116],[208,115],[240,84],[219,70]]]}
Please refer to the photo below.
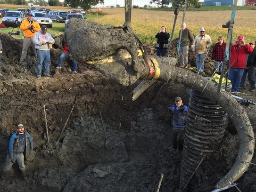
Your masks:
{"label": "mud-covered skull with long curved tusk hanging from straps", "polygon": [[[150,56],[153,64],[150,66],[141,54],[143,50],[138,41],[123,27],[115,28],[71,18],[66,25],[64,38],[77,61],[91,64],[120,84],[129,86],[143,79],[180,83],[193,88],[212,102],[216,100],[216,85],[196,73],[175,67],[174,58]],[[255,141],[248,116],[240,104],[224,90],[220,91],[218,104],[227,112],[239,136],[239,153],[235,164],[216,184],[216,188],[222,188],[235,182],[247,170],[253,157]]]}

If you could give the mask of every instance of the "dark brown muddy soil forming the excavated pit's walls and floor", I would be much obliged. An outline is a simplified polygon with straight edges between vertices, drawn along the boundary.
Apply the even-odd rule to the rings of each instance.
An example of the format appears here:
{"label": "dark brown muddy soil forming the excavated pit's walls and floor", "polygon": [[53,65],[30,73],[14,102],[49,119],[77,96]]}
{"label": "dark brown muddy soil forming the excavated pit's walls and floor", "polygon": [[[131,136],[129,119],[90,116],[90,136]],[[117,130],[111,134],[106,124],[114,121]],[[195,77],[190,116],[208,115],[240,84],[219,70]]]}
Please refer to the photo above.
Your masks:
{"label": "dark brown muddy soil forming the excavated pit's walls and floor", "polygon": [[[81,63],[78,73],[73,74],[70,57],[56,70],[62,38],[55,38],[50,51],[52,78],[37,79],[32,50],[27,61],[19,64],[22,40],[0,35],[4,50],[0,81],[1,170],[17,123],[24,124],[31,134],[35,151],[34,159],[26,160],[27,178],[21,177],[15,165],[1,180],[0,191],[155,192],[162,173],[160,191],[179,191],[182,154],[172,149],[167,107],[176,96],[188,105],[190,89],[157,82],[132,101],[131,92],[139,82],[125,87]],[[151,45],[145,46],[151,55],[155,54]],[[215,69],[210,56],[205,62],[205,76]],[[190,64],[195,65],[191,54]],[[248,88],[242,92],[240,96],[256,101]],[[256,106],[245,108],[255,130]],[[215,189],[218,180],[232,167],[238,147],[238,136],[230,125],[219,150],[207,157],[195,173],[198,192]],[[256,163],[255,157],[252,163]],[[236,183],[243,192],[255,192],[255,179],[256,166],[251,165]]]}

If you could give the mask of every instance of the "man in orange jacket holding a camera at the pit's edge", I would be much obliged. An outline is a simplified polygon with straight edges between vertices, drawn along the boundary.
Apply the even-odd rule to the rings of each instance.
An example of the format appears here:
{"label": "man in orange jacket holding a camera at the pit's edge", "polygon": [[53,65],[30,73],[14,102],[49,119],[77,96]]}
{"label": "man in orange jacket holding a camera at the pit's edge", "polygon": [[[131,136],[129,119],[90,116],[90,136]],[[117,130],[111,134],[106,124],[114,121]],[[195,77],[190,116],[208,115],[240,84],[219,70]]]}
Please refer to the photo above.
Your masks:
{"label": "man in orange jacket holding a camera at the pit's edge", "polygon": [[34,51],[34,56],[36,57],[35,45],[33,43],[33,36],[36,32],[40,31],[41,27],[37,21],[33,20],[32,13],[27,13],[27,19],[25,19],[21,25],[20,30],[25,31],[23,40],[23,49],[20,57],[20,64],[26,60],[27,50],[32,46]]}

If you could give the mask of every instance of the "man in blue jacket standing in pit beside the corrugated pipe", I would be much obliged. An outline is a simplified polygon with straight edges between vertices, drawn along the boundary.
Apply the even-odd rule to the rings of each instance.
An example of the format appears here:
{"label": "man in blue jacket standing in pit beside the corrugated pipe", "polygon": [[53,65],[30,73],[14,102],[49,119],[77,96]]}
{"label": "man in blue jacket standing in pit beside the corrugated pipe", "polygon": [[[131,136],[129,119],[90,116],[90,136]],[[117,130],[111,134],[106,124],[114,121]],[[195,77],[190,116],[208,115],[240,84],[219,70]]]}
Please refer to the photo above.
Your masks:
{"label": "man in blue jacket standing in pit beside the corrugated pipe", "polygon": [[173,114],[173,148],[178,148],[181,151],[184,142],[184,128],[187,121],[188,107],[182,103],[182,98],[178,96],[175,98],[175,105],[169,107],[168,110]]}

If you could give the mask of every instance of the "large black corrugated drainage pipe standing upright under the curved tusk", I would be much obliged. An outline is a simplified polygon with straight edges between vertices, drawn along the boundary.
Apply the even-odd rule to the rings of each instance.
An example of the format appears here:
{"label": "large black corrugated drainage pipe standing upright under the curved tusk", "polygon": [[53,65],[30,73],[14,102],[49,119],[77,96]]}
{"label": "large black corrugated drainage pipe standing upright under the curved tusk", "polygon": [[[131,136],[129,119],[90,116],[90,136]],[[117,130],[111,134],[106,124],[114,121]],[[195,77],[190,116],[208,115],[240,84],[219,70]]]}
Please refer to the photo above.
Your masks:
{"label": "large black corrugated drainage pipe standing upright under the curved tusk", "polygon": [[[210,99],[190,89],[188,122],[182,152],[180,188],[197,191],[194,174],[200,161],[218,147],[228,125],[227,113]],[[188,182],[190,184],[188,184]]]}

